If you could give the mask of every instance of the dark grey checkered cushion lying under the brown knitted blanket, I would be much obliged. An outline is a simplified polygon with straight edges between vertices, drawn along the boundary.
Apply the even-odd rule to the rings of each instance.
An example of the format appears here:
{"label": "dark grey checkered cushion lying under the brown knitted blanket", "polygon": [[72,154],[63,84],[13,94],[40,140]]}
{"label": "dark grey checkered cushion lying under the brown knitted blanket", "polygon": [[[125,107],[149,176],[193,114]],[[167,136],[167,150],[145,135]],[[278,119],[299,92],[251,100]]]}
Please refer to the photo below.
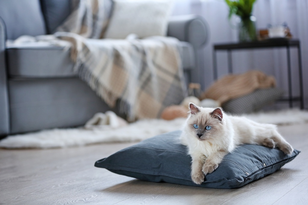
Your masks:
{"label": "dark grey checkered cushion lying under the brown knitted blanket", "polygon": [[284,91],[279,88],[257,89],[253,93],[225,102],[222,107],[232,114],[255,112],[265,105],[274,103],[283,94]]}

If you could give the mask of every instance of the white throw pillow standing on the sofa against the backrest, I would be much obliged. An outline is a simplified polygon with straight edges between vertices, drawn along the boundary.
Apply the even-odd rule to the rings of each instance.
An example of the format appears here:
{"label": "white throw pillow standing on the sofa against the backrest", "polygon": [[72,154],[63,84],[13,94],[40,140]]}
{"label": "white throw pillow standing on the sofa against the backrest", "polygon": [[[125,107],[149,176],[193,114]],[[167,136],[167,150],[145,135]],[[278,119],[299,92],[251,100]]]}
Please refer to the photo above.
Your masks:
{"label": "white throw pillow standing on the sofa against the backrest", "polygon": [[125,39],[166,36],[172,1],[114,1],[113,13],[104,38]]}

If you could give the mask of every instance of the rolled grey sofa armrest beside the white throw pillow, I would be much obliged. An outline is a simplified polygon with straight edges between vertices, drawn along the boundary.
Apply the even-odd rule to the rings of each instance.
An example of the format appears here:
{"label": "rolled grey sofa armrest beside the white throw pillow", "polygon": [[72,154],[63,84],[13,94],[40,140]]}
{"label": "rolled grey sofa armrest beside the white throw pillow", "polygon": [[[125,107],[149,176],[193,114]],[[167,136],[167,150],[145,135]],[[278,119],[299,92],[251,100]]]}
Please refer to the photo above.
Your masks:
{"label": "rolled grey sofa armrest beside the white throw pillow", "polygon": [[208,23],[199,15],[172,16],[168,22],[167,35],[191,43],[195,50],[209,41],[209,33]]}

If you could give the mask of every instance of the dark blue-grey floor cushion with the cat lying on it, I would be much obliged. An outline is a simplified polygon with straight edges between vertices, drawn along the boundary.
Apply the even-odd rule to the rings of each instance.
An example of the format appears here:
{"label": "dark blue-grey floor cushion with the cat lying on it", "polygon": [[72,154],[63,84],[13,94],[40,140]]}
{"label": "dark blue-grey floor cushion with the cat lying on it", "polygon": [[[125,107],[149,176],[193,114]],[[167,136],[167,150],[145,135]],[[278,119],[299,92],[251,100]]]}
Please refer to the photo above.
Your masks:
{"label": "dark blue-grey floor cushion with the cat lying on it", "polygon": [[226,155],[218,168],[198,185],[191,180],[191,157],[180,144],[179,136],[180,131],[174,131],[152,137],[98,160],[95,167],[151,182],[230,189],[277,171],[299,153],[294,150],[290,156],[278,149],[245,144]]}

